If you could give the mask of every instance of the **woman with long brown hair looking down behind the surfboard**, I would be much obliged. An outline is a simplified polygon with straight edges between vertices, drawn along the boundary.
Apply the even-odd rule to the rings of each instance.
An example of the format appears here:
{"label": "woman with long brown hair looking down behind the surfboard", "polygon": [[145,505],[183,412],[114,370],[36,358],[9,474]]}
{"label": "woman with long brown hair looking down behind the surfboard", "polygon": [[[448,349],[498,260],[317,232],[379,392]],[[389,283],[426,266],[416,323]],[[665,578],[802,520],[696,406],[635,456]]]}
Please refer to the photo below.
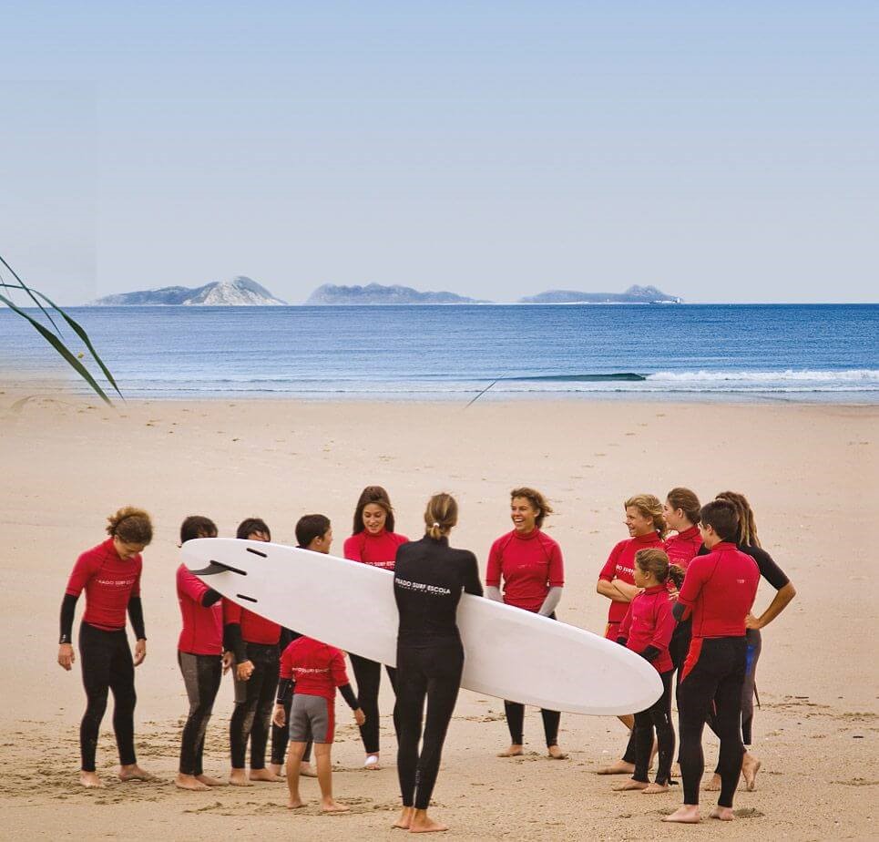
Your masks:
{"label": "woman with long brown hair looking down behind the surfboard", "polygon": [[[351,537],[345,539],[344,555],[351,561],[362,561],[383,570],[394,570],[397,548],[406,544],[405,535],[394,532],[394,507],[387,491],[381,486],[363,488],[354,508]],[[366,714],[366,724],[360,729],[366,759],[365,769],[379,768],[379,709],[378,692],[382,683],[382,664],[360,655],[349,654],[354,679],[357,682],[357,698]],[[396,693],[396,670],[386,667],[391,686]],[[396,730],[396,720],[394,720]]]}

